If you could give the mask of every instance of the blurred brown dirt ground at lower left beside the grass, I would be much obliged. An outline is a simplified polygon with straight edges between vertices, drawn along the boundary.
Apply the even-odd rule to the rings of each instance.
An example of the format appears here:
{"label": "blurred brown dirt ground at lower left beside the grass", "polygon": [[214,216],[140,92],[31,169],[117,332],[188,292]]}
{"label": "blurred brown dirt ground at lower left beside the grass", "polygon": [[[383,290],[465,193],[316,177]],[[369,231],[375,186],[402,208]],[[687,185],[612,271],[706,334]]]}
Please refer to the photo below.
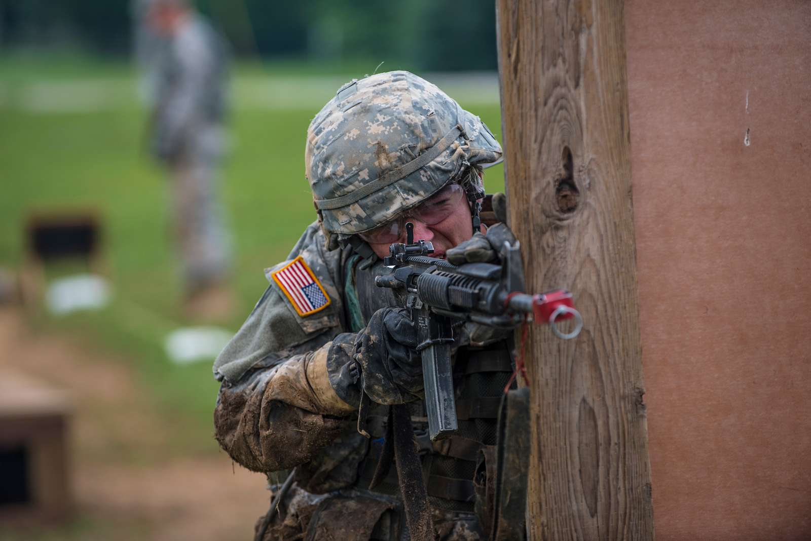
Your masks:
{"label": "blurred brown dirt ground at lower left beside the grass", "polygon": [[[251,539],[268,506],[263,475],[224,453],[165,458],[172,427],[138,388],[124,360],[84,351],[70,339],[36,334],[0,309],[0,372],[22,371],[67,390],[76,520],[41,539]],[[216,444],[212,444],[216,445]],[[32,532],[0,538],[30,539]]]}

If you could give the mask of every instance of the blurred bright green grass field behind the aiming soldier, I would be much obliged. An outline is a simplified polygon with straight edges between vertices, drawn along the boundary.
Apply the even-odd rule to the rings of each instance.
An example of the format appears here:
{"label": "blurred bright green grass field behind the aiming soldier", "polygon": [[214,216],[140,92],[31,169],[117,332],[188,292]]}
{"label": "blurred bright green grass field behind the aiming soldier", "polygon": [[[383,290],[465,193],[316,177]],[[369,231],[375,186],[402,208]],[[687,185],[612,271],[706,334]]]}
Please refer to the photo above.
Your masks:
{"label": "blurred bright green grass field behind the aiming soldier", "polygon": [[[233,147],[222,173],[242,314],[230,322],[232,330],[266,288],[264,267],[281,261],[315,219],[303,176],[307,124],[341,82],[363,76],[322,67],[235,70]],[[181,284],[165,175],[144,151],[137,86],[134,70],[123,63],[0,57],[0,266],[19,266],[30,211],[100,211],[113,303],[101,312],[40,316],[33,323],[123,354],[116,357],[135,364],[166,415],[184,420],[178,423],[178,451],[212,452],[217,384],[211,366],[171,364],[163,351],[165,335],[184,323]],[[448,92],[500,137],[497,96],[476,92],[470,83],[457,86],[458,93]],[[501,190],[502,166],[488,170],[486,181],[489,191]]]}

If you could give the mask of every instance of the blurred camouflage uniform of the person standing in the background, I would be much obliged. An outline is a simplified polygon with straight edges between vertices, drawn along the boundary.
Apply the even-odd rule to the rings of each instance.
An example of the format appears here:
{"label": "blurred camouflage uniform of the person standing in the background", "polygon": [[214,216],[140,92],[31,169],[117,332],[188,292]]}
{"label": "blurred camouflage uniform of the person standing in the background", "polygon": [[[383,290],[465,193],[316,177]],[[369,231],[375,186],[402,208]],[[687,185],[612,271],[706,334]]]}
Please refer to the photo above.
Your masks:
{"label": "blurred camouflage uniform of the person standing in the background", "polygon": [[191,13],[159,47],[151,53],[157,62],[152,151],[173,177],[172,215],[192,292],[221,281],[230,259],[217,194],[227,55],[217,33]]}

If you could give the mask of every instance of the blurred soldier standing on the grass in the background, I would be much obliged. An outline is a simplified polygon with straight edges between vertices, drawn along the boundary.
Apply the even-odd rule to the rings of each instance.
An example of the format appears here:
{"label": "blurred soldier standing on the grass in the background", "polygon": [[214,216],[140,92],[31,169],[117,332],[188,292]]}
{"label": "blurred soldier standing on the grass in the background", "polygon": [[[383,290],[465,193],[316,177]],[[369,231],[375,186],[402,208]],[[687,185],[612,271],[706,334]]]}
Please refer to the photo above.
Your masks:
{"label": "blurred soldier standing on the grass in the background", "polygon": [[172,177],[186,311],[200,319],[227,317],[230,249],[217,201],[228,82],[225,43],[186,0],[138,4],[136,53],[152,106],[150,143]]}

